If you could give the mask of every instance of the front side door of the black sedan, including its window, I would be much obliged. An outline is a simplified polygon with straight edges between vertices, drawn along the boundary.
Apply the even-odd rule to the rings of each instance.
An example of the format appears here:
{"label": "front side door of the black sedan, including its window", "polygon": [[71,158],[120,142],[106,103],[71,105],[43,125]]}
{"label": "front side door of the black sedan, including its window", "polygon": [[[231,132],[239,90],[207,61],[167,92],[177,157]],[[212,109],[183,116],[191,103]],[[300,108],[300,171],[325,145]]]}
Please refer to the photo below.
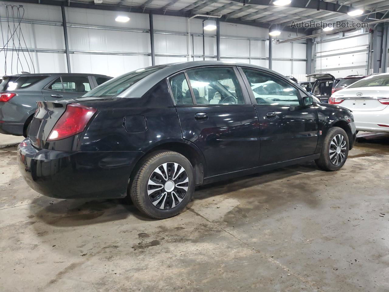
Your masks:
{"label": "front side door of the black sedan, including its window", "polygon": [[318,118],[314,106],[303,107],[299,91],[287,79],[263,70],[241,68],[261,131],[259,164],[266,165],[315,153]]}

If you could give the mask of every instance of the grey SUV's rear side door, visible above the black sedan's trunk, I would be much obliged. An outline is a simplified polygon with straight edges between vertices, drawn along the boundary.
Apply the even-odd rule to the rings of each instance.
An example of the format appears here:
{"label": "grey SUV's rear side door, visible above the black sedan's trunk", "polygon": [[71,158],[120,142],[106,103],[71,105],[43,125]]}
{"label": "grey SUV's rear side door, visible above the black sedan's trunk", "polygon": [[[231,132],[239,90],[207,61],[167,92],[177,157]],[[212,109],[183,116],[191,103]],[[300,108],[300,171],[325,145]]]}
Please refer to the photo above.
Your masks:
{"label": "grey SUV's rear side door, visible above the black sedan's trunk", "polygon": [[88,75],[63,75],[54,79],[42,89],[45,100],[75,99],[93,88]]}

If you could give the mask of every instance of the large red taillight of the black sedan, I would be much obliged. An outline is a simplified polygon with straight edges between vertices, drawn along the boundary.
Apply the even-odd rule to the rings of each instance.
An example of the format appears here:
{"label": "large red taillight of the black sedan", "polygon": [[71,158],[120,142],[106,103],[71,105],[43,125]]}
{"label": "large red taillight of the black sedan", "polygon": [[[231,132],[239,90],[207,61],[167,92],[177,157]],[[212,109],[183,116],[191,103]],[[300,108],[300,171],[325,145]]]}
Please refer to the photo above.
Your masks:
{"label": "large red taillight of the black sedan", "polygon": [[47,141],[65,139],[81,133],[96,111],[97,109],[82,106],[81,104],[68,104],[65,113],[54,125],[53,130],[51,130]]}

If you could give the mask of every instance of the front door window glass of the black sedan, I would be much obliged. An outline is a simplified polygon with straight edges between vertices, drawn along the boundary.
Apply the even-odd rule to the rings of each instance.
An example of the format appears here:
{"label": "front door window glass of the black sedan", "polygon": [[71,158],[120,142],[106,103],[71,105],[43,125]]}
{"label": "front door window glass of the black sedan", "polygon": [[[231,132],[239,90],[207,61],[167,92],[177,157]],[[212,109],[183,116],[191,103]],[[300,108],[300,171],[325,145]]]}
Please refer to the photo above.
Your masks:
{"label": "front door window glass of the black sedan", "polygon": [[298,92],[286,81],[262,71],[242,68],[257,104],[298,106]]}

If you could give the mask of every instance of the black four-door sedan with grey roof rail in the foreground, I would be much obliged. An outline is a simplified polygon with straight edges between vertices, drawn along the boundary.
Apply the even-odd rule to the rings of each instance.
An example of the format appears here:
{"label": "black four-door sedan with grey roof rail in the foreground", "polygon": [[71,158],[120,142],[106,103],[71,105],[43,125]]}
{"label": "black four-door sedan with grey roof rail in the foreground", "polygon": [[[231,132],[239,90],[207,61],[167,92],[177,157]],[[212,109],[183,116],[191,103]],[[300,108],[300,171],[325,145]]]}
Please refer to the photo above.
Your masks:
{"label": "black four-door sedan with grey roof rail in the foreground", "polygon": [[180,213],[196,185],[310,160],[336,171],[356,138],[348,109],[243,63],[152,66],[37,104],[18,147],[28,185],[63,199],[129,197],[158,219]]}

